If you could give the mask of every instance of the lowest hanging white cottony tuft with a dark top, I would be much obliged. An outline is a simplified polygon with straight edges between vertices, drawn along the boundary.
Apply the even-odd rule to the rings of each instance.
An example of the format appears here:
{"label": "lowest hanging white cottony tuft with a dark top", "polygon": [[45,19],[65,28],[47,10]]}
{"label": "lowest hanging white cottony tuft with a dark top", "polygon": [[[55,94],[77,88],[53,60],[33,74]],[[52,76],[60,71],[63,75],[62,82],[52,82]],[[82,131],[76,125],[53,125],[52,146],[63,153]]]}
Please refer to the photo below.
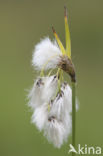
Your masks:
{"label": "lowest hanging white cottony tuft with a dark top", "polygon": [[60,148],[64,142],[67,142],[71,133],[71,116],[66,114],[66,123],[58,120],[55,116],[49,116],[44,127],[44,135],[50,143]]}

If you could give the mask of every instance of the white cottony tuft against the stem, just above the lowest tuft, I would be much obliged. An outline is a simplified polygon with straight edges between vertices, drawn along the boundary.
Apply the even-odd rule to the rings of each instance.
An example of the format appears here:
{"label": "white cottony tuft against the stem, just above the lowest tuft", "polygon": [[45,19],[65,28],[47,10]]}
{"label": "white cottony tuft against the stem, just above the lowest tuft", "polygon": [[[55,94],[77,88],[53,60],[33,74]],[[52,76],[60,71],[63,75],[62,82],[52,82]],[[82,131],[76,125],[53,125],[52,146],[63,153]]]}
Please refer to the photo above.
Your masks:
{"label": "white cottony tuft against the stem, just above the lowest tuft", "polygon": [[[52,102],[50,114],[56,116],[58,120],[63,120],[65,113],[72,111],[72,91],[68,84],[63,83],[61,91]],[[65,119],[65,118],[64,118]]]}

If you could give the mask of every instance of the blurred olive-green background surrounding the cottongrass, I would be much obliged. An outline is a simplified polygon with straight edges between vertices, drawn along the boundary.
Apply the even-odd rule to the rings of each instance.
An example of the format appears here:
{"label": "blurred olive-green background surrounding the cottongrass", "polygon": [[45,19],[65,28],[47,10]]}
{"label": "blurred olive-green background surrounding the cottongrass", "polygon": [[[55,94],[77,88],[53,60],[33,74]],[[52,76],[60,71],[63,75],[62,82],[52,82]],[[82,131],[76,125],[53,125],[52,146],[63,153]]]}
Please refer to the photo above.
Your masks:
{"label": "blurred olive-green background surrounding the cottongrass", "polygon": [[27,89],[36,77],[32,51],[40,38],[63,43],[68,8],[72,58],[77,71],[76,142],[103,147],[103,0],[0,0],[0,156],[67,156],[30,123]]}

